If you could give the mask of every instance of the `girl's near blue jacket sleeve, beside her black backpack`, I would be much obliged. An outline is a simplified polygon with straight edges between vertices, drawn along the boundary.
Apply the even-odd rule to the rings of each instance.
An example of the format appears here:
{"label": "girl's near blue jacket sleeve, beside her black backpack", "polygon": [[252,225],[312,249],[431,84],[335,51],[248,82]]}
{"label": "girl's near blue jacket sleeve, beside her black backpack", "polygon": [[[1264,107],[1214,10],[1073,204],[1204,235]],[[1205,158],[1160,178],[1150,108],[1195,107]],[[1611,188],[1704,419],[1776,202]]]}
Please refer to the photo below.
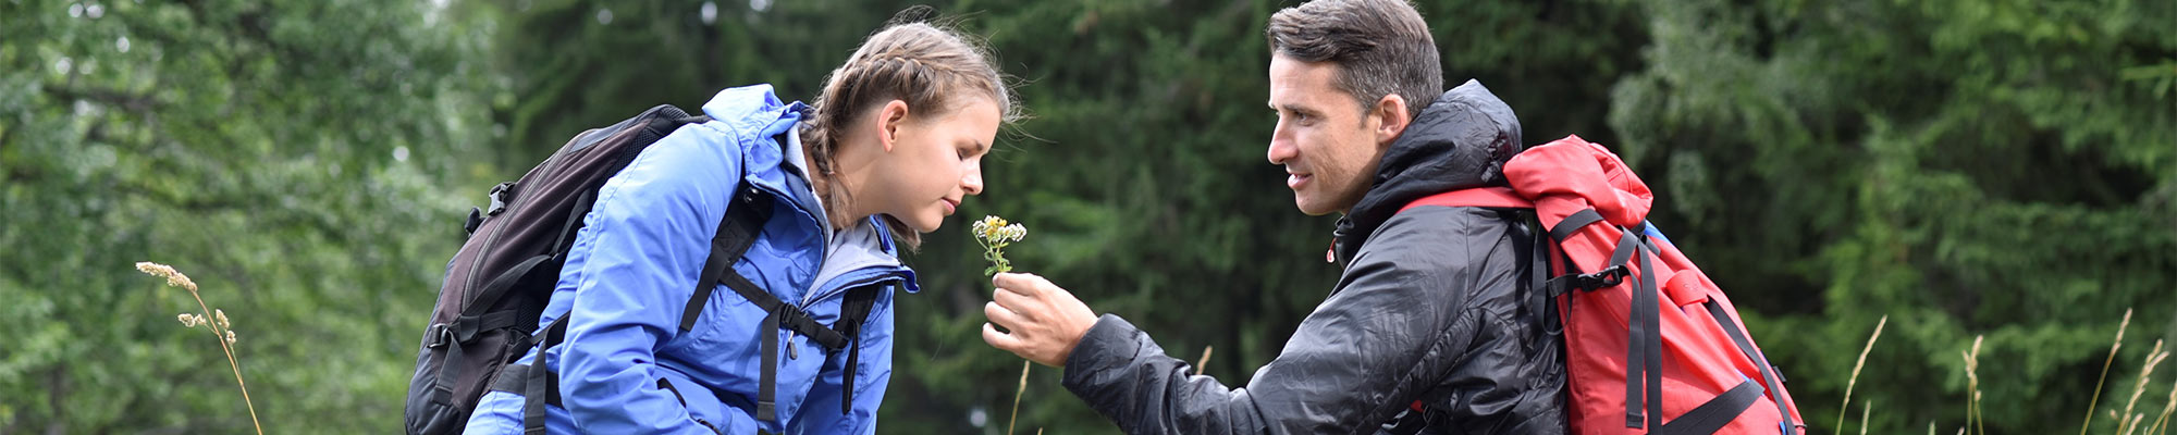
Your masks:
{"label": "girl's near blue jacket sleeve, beside her black backpack", "polygon": [[575,285],[559,396],[581,433],[712,433],[657,387],[655,348],[679,333],[738,176],[725,133],[688,126],[599,189],[559,283]]}

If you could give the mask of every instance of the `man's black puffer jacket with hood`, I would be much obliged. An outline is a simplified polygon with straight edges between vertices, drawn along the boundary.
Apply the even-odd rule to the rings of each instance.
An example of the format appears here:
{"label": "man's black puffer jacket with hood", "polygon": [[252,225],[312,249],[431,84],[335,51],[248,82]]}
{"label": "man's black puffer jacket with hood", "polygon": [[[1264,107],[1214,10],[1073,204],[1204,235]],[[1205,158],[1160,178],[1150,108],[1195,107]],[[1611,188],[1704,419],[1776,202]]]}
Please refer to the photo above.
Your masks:
{"label": "man's black puffer jacket with hood", "polygon": [[1391,144],[1337,228],[1337,289],[1276,361],[1232,389],[1104,315],[1065,385],[1128,433],[1378,433],[1415,400],[1424,433],[1565,433],[1565,359],[1528,296],[1533,233],[1469,207],[1400,207],[1502,185],[1520,120],[1480,83],[1446,91]]}

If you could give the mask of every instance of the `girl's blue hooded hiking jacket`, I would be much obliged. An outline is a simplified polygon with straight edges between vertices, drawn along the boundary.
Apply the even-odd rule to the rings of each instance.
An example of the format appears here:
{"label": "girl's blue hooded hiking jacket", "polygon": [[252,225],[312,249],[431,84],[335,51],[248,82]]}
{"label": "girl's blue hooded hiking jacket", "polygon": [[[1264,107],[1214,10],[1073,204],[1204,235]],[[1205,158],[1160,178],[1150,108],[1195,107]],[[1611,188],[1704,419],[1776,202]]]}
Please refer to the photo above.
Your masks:
{"label": "girl's blue hooded hiking jacket", "polygon": [[[734,289],[712,291],[694,331],[679,331],[742,183],[777,207],[734,270],[779,300],[834,324],[847,287],[917,291],[882,222],[834,233],[823,220],[792,133],[803,111],[768,85],[718,91],[703,104],[710,122],[666,135],[599,189],[538,322],[573,315],[566,344],[544,350],[566,405],[549,409],[551,433],[875,433],[893,374],[893,291],[880,291],[862,326],[849,413],[840,413],[847,352],[786,328],[760,331],[764,311]],[[784,144],[773,139],[782,135]],[[764,333],[779,335],[777,355],[760,355]],[[531,348],[518,363],[536,357]],[[779,359],[784,422],[753,418],[762,357]],[[492,391],[466,433],[520,433],[520,420],[522,396]]]}

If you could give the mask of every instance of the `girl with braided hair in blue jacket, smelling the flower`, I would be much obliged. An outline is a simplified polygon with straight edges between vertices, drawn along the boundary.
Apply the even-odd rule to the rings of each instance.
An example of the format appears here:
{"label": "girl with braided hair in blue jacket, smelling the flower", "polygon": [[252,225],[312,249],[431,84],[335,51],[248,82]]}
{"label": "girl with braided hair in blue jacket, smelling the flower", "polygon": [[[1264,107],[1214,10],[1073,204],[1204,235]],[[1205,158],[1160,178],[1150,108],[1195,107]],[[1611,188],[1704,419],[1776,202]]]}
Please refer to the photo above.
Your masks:
{"label": "girl with braided hair in blue jacket, smelling the flower", "polygon": [[[753,85],[703,113],[599,189],[538,322],[546,337],[566,318],[564,341],[542,350],[546,398],[494,387],[466,433],[875,431],[893,289],[917,291],[899,246],[982,194],[982,154],[1014,117],[1006,83],[954,30],[893,24],[832,70],[814,109]],[[716,285],[692,307],[736,207],[766,211],[729,270],[753,285]],[[847,294],[864,291],[866,320],[840,324],[858,311]],[[531,348],[516,363],[536,361]]]}

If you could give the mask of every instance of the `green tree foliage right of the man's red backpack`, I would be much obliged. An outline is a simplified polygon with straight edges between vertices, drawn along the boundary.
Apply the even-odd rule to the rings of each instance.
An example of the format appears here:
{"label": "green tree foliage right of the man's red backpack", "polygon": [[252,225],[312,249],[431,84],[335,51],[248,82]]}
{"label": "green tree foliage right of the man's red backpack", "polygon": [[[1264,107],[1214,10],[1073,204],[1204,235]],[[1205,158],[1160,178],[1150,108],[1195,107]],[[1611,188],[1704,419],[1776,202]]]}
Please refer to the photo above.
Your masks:
{"label": "green tree foliage right of the man's red backpack", "polygon": [[[1672,237],[1763,313],[1755,335],[1809,420],[1846,411],[1827,409],[1842,355],[1881,315],[1861,385],[1894,387],[1859,396],[1883,409],[1877,433],[1961,424],[1977,335],[1985,424],[2005,433],[2077,431],[2049,415],[2086,411],[2125,309],[2168,337],[2177,100],[2151,67],[2177,59],[2177,9],[1644,7],[1650,67],[1618,85],[1613,146],[1661,185]],[[2129,394],[2151,339],[2112,389]]]}

